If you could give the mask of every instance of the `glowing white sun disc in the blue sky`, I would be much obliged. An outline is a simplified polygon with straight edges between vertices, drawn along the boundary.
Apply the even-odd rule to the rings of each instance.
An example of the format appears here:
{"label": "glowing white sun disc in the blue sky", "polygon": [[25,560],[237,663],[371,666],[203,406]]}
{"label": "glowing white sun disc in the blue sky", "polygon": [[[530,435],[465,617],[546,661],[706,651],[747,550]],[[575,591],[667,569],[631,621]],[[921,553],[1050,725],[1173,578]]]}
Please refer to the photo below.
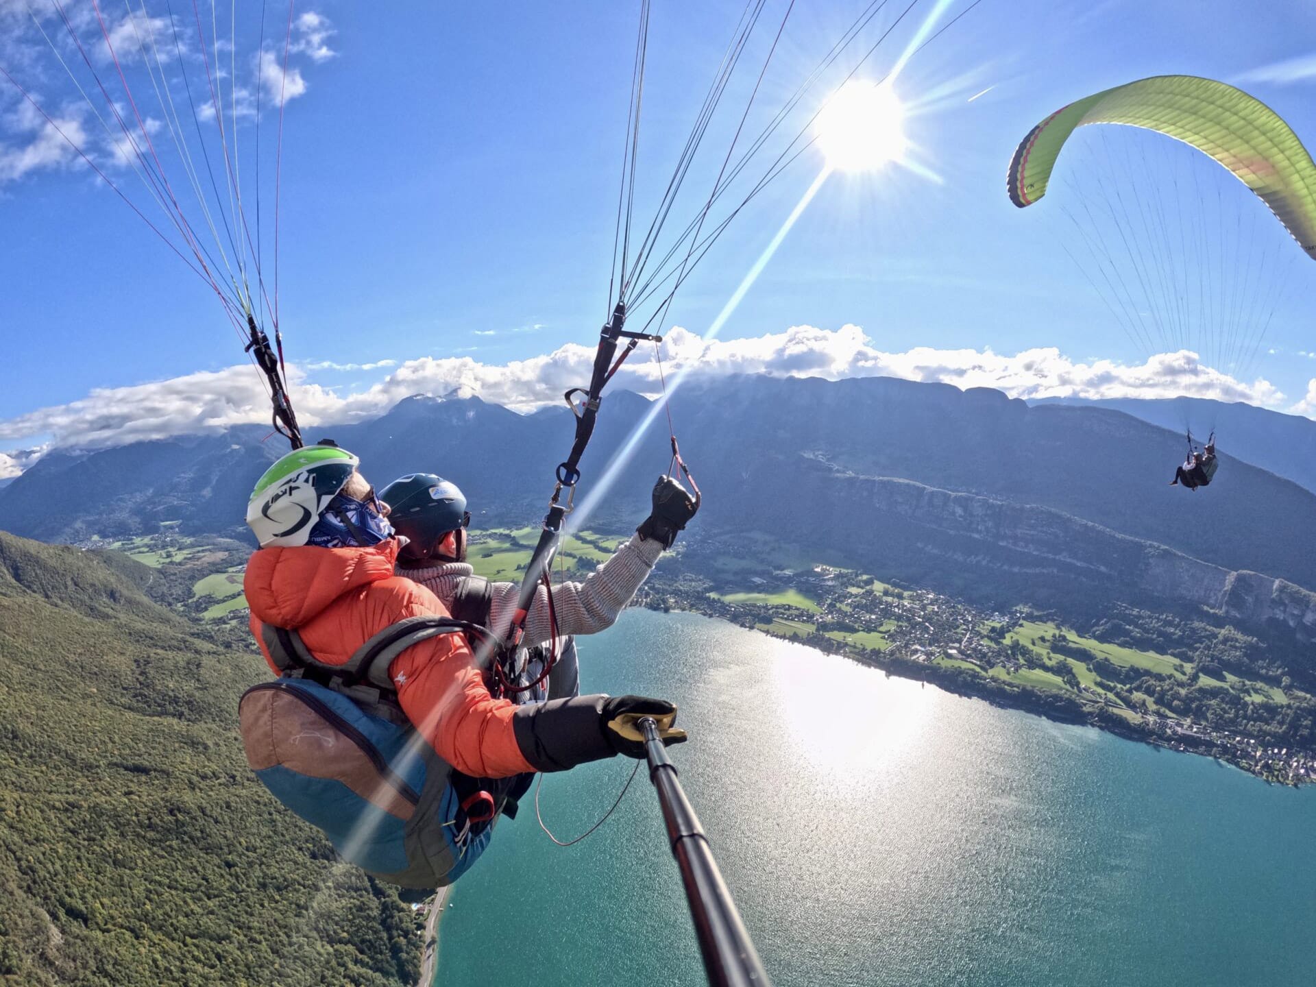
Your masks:
{"label": "glowing white sun disc in the blue sky", "polygon": [[826,101],[815,122],[819,147],[838,171],[867,171],[900,161],[908,141],[904,107],[890,86],[858,79]]}

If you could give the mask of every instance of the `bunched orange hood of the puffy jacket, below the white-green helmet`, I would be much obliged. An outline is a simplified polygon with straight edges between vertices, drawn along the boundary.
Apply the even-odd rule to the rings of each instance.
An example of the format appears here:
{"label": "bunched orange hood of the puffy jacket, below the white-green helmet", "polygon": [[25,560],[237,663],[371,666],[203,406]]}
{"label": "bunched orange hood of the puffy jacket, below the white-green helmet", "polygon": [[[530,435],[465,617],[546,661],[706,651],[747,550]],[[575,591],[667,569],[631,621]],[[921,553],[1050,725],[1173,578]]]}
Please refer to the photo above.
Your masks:
{"label": "bunched orange hood of the puffy jacket, below the white-green helmet", "polygon": [[343,594],[391,578],[397,547],[397,540],[390,538],[370,547],[258,549],[242,579],[251,616],[278,628],[299,628]]}

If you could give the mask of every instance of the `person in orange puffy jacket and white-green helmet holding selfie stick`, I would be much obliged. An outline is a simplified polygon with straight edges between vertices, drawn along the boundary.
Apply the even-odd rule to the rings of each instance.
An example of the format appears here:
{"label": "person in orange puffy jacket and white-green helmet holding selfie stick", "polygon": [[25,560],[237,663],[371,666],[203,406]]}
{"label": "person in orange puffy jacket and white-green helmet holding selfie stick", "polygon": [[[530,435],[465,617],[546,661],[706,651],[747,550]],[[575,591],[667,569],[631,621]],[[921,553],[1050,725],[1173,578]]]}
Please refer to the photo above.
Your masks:
{"label": "person in orange puffy jacket and white-green helmet holding selfie stick", "polygon": [[[393,575],[399,544],[387,507],[357,471],[357,457],[333,445],[279,459],[257,483],[247,524],[261,549],[243,588],[251,629],[296,630],[321,662],[342,665],[366,641],[408,617],[447,616],[429,590]],[[266,661],[278,671],[268,649]],[[642,696],[605,695],[517,705],[495,699],[461,633],[412,645],[388,669],[407,717],[449,765],[474,778],[561,771],[619,753],[642,758],[636,722],[654,717],[665,744],[675,707]]]}

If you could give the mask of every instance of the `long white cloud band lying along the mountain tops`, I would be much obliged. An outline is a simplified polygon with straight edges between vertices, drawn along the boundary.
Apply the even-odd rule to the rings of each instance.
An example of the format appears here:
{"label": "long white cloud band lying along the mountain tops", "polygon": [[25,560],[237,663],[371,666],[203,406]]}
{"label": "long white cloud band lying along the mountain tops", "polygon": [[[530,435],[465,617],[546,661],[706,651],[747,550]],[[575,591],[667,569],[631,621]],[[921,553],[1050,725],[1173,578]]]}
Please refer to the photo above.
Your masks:
{"label": "long white cloud band lying along the mountain tops", "polygon": [[[380,361],[376,366],[384,366]],[[293,407],[303,428],[362,421],[387,412],[415,393],[478,395],[486,401],[529,412],[558,404],[570,387],[588,382],[594,349],[570,343],[553,353],[480,363],[471,357],[422,357],[396,366],[383,380],[363,390],[338,390],[305,380],[305,371],[351,365],[290,365]],[[365,368],[365,367],[363,367]],[[898,376],[940,380],[957,387],[995,387],[1012,397],[1170,397],[1192,395],[1225,401],[1279,407],[1286,399],[1269,382],[1234,380],[1204,367],[1196,354],[1163,353],[1145,363],[1074,361],[1054,347],[1013,355],[984,350],[937,350],[926,346],[884,353],[871,346],[863,330],[794,326],[746,340],[705,341],[676,328],[663,343],[667,379],[682,370],[695,375],[772,374],[820,376],[830,380]],[[655,395],[658,363],[641,347],[617,372],[615,387]],[[1316,412],[1316,382],[1295,413]],[[104,388],[71,404],[42,408],[0,421],[0,442],[50,436],[57,446],[107,446],[205,432],[238,424],[265,424],[270,405],[259,375],[250,365],[190,374],[132,387]]]}

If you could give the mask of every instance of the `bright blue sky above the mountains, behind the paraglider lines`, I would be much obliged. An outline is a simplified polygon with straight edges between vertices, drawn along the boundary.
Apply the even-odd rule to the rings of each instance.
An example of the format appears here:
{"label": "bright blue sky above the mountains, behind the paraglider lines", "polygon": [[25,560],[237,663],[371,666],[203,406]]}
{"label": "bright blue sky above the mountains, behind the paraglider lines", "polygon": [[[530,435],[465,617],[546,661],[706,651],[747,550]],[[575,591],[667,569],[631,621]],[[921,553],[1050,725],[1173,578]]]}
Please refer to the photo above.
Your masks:
{"label": "bright blue sky above the mountains, behind the paraglider lines", "polygon": [[[967,3],[944,4],[937,24]],[[155,0],[146,7],[151,14],[163,9]],[[799,4],[757,105],[775,111],[863,7]],[[867,37],[905,3],[888,7]],[[888,70],[936,7],[934,0],[916,5],[862,75]],[[89,9],[70,4],[79,8]],[[222,21],[228,8],[217,9]],[[574,0],[412,3],[384,14],[379,5],[336,0],[297,8],[299,16],[316,14],[316,29],[299,28],[290,59],[305,92],[287,103],[279,295],[297,380],[317,386],[307,397],[312,413],[378,413],[390,396],[434,380],[487,387],[491,400],[515,404],[515,395],[491,382],[541,380],[547,365],[536,361],[590,343],[607,301],[637,9]],[[784,3],[769,3],[675,218],[692,215],[708,188],[783,9]],[[0,34],[8,28],[9,38],[0,45],[0,64],[53,114],[59,108],[76,114],[76,93],[49,50],[30,32],[18,33],[21,12],[21,1],[0,0]],[[738,13],[740,4],[654,4],[637,205],[645,221]],[[240,8],[237,16],[255,14]],[[1032,370],[988,361],[959,378],[976,383],[996,374],[1005,390],[1020,374],[1063,376],[1073,362],[1141,363],[1148,354],[1057,249],[1057,213],[1040,215],[1046,203],[1020,212],[1007,200],[1011,151],[1034,122],[1073,99],[1171,72],[1237,82],[1300,136],[1313,134],[1313,29],[1316,9],[1299,3],[983,0],[896,82],[913,111],[907,133],[920,168],[826,179],[721,332],[728,343],[759,342],[701,353],[728,368],[790,368],[791,347],[803,347],[812,354],[805,368],[821,361],[844,372],[849,359],[867,372],[936,376],[941,363],[930,350],[990,347],[1001,357],[1059,350],[1059,362],[1034,361]],[[282,26],[270,33],[282,36]],[[254,58],[251,38],[242,41]],[[247,70],[236,64],[243,78]],[[86,438],[78,422],[104,413],[88,401],[97,390],[149,390],[212,371],[213,378],[195,378],[205,392],[197,400],[216,400],[216,388],[236,379],[224,371],[241,353],[209,288],[67,155],[51,151],[33,164],[42,130],[24,120],[3,78],[0,93],[7,343],[0,450]],[[820,88],[805,103],[817,105],[825,95]],[[267,151],[272,118],[267,113],[262,130]],[[757,112],[755,120],[762,120]],[[696,336],[707,329],[821,167],[820,155],[807,153],[745,209],[683,288],[669,324]],[[126,182],[112,161],[107,170]],[[267,233],[268,178],[266,168]],[[1275,230],[1283,238],[1278,224]],[[1316,349],[1312,274],[1302,265],[1286,274],[1292,290],[1266,340],[1275,353],[1262,353],[1252,374],[1283,392],[1271,404],[1284,409],[1302,401],[1316,378],[1316,359],[1299,355]],[[846,325],[861,326],[866,340],[842,334]],[[817,332],[788,337],[791,326]],[[929,351],[903,362],[873,355],[915,347]],[[578,354],[567,357],[563,367],[579,366]],[[408,361],[425,358],[401,372]],[[453,358],[466,363],[437,363]],[[508,370],[517,361],[525,363]],[[328,362],[390,366],[315,366]],[[561,391],[555,382],[554,388]],[[186,403],[187,391],[175,383],[150,392],[150,407],[168,420],[163,430],[191,421],[170,404]],[[141,399],[146,391],[125,393]],[[41,408],[63,411],[33,416]],[[1300,411],[1316,413],[1316,405]],[[228,421],[230,413],[241,409],[207,421]],[[117,436],[117,428],[104,434]]]}

